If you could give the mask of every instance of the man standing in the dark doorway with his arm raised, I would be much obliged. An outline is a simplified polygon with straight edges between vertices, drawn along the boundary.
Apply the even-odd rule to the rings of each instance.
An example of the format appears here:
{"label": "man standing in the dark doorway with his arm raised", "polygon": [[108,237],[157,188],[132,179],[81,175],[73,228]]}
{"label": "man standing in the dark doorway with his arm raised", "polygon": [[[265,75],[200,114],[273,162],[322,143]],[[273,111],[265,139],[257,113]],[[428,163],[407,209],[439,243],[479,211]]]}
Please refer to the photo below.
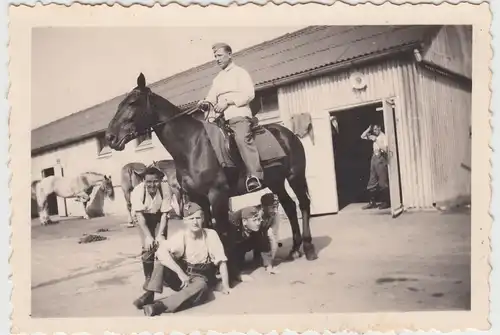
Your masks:
{"label": "man standing in the dark doorway with his arm raised", "polygon": [[[370,179],[366,189],[370,193],[370,202],[363,209],[379,208],[387,209],[390,207],[389,193],[389,173],[387,157],[387,138],[382,132],[379,124],[370,125],[361,134],[361,138],[373,142],[373,153],[370,162]],[[377,205],[377,197],[381,203]]]}

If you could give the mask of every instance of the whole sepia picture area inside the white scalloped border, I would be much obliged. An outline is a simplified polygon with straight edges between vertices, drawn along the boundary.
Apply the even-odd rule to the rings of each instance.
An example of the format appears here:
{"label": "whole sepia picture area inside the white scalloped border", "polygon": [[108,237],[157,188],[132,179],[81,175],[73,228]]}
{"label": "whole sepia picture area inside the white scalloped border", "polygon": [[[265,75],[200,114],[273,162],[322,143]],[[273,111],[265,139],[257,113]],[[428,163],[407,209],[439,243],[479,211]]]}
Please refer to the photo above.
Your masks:
{"label": "whole sepia picture area inside the white scalloped border", "polygon": [[471,311],[473,35],[32,28],[30,317]]}

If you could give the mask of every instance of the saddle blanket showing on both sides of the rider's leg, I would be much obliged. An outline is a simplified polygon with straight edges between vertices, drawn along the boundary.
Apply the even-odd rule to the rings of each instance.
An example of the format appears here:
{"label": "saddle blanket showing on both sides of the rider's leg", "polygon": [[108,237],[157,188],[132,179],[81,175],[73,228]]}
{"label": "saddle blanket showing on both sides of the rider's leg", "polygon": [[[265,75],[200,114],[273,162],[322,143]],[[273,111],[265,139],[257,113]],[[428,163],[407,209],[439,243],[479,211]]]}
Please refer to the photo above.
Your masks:
{"label": "saddle blanket showing on both sides of the rider's leg", "polygon": [[[237,167],[228,149],[228,137],[225,136],[222,129],[209,122],[203,122],[203,125],[222,167]],[[257,146],[262,167],[265,167],[277,159],[285,157],[286,154],[273,134],[267,129],[261,129],[254,132],[254,143]]]}

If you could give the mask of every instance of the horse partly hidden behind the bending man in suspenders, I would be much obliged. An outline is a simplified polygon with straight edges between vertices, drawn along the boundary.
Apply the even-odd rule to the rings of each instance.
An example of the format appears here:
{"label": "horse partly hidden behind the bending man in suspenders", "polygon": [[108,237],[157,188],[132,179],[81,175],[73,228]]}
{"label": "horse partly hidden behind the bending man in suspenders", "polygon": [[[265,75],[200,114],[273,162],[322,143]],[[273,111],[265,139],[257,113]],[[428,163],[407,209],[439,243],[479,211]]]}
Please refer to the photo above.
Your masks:
{"label": "horse partly hidden behind the bending man in suspenders", "polygon": [[[174,208],[176,214],[182,217],[182,207],[184,204],[184,195],[182,189],[177,181],[175,163],[172,160],[161,160],[158,162],[153,162],[167,177],[167,183],[175,196],[173,205],[178,208]],[[127,203],[128,211],[128,223],[133,225],[135,220],[132,215],[132,204],[130,202],[130,194],[132,193],[134,187],[139,185],[143,181],[141,173],[146,169],[146,165],[139,162],[127,163],[122,167],[121,171],[121,187],[123,191],[123,196],[125,197],[125,202]]]}

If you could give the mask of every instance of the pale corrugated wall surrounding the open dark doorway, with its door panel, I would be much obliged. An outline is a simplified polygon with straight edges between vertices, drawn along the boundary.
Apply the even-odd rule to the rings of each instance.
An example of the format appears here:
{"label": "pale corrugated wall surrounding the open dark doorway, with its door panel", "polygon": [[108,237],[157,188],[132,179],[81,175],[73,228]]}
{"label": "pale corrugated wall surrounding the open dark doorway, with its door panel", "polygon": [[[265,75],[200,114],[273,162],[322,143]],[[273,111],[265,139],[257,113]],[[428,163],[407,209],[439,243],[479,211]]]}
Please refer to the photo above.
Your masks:
{"label": "pale corrugated wall surrounding the open dark doorway, with its door panel", "polygon": [[[351,73],[359,72],[365,88],[354,89]],[[431,207],[433,203],[429,153],[422,139],[429,138],[429,129],[419,115],[417,96],[418,77],[413,62],[390,60],[312,78],[280,87],[278,91],[283,122],[290,127],[290,118],[299,113],[310,113],[315,129],[315,144],[303,140],[308,161],[307,177],[314,214],[338,211],[336,181],[331,149],[328,112],[395,97],[396,128],[403,204],[406,208]],[[340,130],[342,131],[342,130]],[[319,143],[322,139],[330,143]],[[318,162],[321,162],[318,165]],[[333,191],[332,191],[333,189]],[[327,192],[325,192],[327,190]]]}

